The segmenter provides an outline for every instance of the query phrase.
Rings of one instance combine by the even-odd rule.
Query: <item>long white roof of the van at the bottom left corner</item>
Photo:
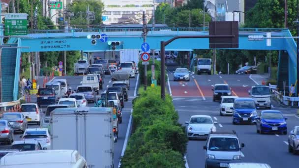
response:
[[[2,157],[0,165],[16,166],[42,163],[76,163],[80,158],[79,156],[80,154],[77,150],[35,150],[14,152],[8,153]]]

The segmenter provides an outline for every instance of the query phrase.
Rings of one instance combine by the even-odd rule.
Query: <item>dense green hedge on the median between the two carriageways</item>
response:
[[[132,135],[122,168],[183,168],[187,138],[178,122],[178,113],[167,95],[160,98],[160,87],[149,87],[133,106]]]

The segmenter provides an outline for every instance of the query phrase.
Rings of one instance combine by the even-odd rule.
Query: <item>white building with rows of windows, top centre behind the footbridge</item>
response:
[[[102,21],[104,25],[142,24],[143,11],[146,11],[147,22],[152,17],[153,0],[103,0],[103,2]]]

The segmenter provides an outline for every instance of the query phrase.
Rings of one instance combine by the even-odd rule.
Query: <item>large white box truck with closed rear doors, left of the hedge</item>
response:
[[[112,108],[60,108],[51,113],[51,149],[77,150],[88,168],[113,168]]]

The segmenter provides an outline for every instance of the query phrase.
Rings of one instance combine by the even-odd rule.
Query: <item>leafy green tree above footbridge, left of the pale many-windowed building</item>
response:
[[[71,26],[75,28],[87,28],[86,12],[87,6],[90,11],[95,13],[95,20],[90,20],[90,27],[99,28],[102,23],[102,12],[104,11],[104,4],[100,0],[74,0],[67,8],[74,12],[74,17],[71,17]]]

